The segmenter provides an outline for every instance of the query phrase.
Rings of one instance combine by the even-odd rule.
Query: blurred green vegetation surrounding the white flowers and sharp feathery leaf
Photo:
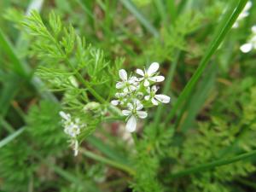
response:
[[[113,96],[120,67],[158,61],[172,97],[151,111],[136,143],[123,138],[122,121],[98,119],[73,157],[59,101],[79,110],[90,98],[50,91],[58,84],[51,79],[66,76],[42,75],[54,60],[21,25],[35,2],[0,2],[0,191],[256,191],[255,52],[239,49],[256,24],[255,5],[232,29],[246,0],[42,1],[46,26],[54,12],[92,44],[90,61],[101,49],[112,73],[84,75],[101,96]]]

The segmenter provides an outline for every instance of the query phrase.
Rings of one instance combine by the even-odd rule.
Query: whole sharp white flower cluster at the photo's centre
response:
[[[137,119],[145,119],[148,113],[142,111],[144,107],[157,106],[160,102],[170,102],[170,97],[162,94],[156,94],[158,88],[154,85],[157,82],[165,80],[164,76],[158,75],[159,64],[153,62],[148,69],[144,71],[137,69],[136,73],[140,75],[139,78],[135,76],[128,77],[125,69],[119,70],[119,81],[116,88],[120,92],[115,94],[116,100],[111,103],[114,106],[119,105],[125,108],[122,113],[127,116],[126,130],[133,132],[136,130]],[[150,87],[151,86],[151,87]]]

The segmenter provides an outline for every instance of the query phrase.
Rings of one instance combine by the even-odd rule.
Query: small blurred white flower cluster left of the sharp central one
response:
[[[61,111],[60,115],[64,132],[70,137],[70,145],[73,148],[74,155],[77,156],[79,154],[79,141],[77,137],[85,124],[82,124],[79,118],[73,120],[69,113]]]

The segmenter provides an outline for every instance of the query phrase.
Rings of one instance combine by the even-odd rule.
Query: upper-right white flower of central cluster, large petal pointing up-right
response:
[[[164,76],[157,75],[157,71],[159,69],[159,63],[153,62],[151,65],[148,67],[148,69],[143,70],[142,69],[137,69],[136,73],[143,76],[143,78],[138,79],[139,81],[144,81],[144,86],[148,87],[150,84],[150,81],[152,82],[161,82],[165,80]]]

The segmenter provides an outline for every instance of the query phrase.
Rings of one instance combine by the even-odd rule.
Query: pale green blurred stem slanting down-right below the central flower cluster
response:
[[[100,156],[98,154],[91,153],[90,151],[84,150],[83,148],[80,149],[80,152],[81,152],[81,154],[84,154],[86,157],[89,157],[92,160],[97,160],[97,161],[102,162],[104,164],[107,164],[109,166],[113,166],[113,167],[118,168],[119,170],[127,172],[127,173],[129,173],[131,175],[135,175],[136,174],[135,170],[133,170],[129,166],[125,166],[125,165],[120,164],[120,163],[118,163],[116,161],[109,160],[109,159],[107,159],[105,157],[102,157],[102,156]]]

